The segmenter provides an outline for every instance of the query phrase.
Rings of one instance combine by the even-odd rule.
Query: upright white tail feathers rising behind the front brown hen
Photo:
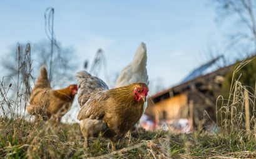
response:
[[[135,82],[143,82],[148,85],[148,74],[146,71],[146,45],[141,42],[133,61],[121,71],[116,80],[115,87],[122,87]]]

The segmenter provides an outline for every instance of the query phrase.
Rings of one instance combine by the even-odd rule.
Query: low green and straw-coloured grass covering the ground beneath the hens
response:
[[[131,134],[131,140],[120,140],[119,152],[112,155],[104,138],[92,139],[88,150],[83,144],[77,123],[51,125],[1,118],[0,158],[256,158],[255,137],[241,132],[173,134],[138,130]]]

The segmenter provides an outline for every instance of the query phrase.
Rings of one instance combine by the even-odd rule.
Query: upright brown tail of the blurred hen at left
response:
[[[47,77],[47,70],[46,65],[42,65],[40,68],[40,73],[38,75],[38,80],[36,81],[36,84],[34,85],[34,89],[36,88],[51,88],[50,81]]]

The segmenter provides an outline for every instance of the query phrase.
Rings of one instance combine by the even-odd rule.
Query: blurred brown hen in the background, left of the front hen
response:
[[[60,122],[61,117],[71,108],[77,90],[77,85],[74,84],[64,89],[51,89],[47,70],[43,65],[32,90],[30,105],[26,106],[26,110],[36,118],[41,116],[44,120],[48,120],[54,117]]]

